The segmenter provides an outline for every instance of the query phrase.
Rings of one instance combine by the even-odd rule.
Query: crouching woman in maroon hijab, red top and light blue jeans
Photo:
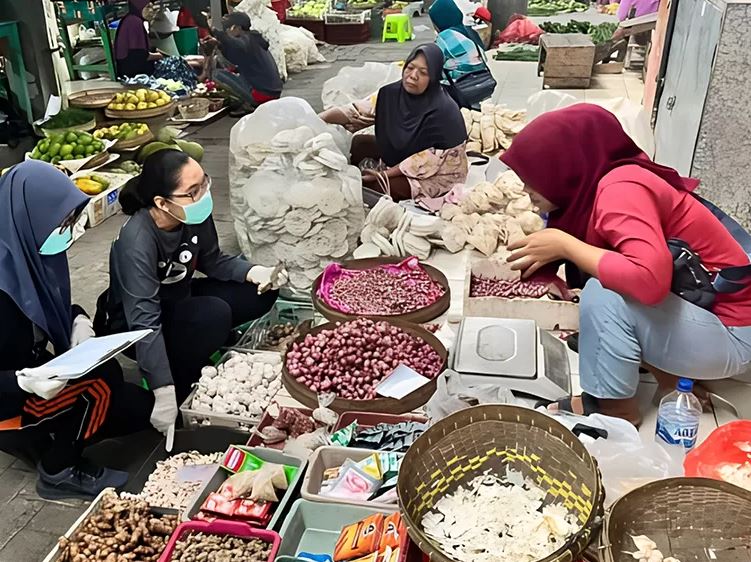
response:
[[[579,313],[583,394],[551,409],[601,412],[638,424],[641,364],[658,378],[661,392],[675,388],[675,376],[745,373],[751,288],[718,294],[711,310],[670,292],[671,238],[688,244],[710,271],[749,262],[691,195],[698,180],[652,162],[613,114],[589,104],[541,115],[501,160],[548,214],[547,228],[509,248],[513,268],[529,276],[565,261],[589,277]]]

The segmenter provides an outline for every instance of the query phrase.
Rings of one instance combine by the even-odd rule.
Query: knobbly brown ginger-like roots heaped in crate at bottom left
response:
[[[154,515],[146,502],[113,492],[71,538],[60,538],[58,562],[157,562],[175,527],[176,516]]]

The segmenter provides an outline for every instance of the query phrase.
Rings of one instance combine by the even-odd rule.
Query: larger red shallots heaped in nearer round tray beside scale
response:
[[[425,341],[367,318],[308,334],[293,344],[286,362],[289,374],[313,392],[333,392],[350,400],[375,398],[375,387],[400,363],[431,379],[443,364]]]

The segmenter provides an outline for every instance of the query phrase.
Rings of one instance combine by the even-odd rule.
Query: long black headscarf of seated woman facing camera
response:
[[[383,161],[396,166],[422,150],[447,150],[467,140],[467,129],[456,102],[441,85],[443,53],[435,43],[418,46],[405,62],[417,55],[428,61],[430,84],[419,96],[408,93],[402,81],[383,86],[376,101],[376,142]]]

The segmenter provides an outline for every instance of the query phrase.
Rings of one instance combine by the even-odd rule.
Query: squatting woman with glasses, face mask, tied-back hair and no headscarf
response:
[[[221,251],[211,178],[184,152],[149,156],[120,205],[131,216],[112,245],[110,288],[95,324],[109,333],[153,330],[135,354],[156,399],[152,425],[166,434],[210,355],[233,326],[271,309],[286,272]],[[206,278],[193,279],[196,271]]]

